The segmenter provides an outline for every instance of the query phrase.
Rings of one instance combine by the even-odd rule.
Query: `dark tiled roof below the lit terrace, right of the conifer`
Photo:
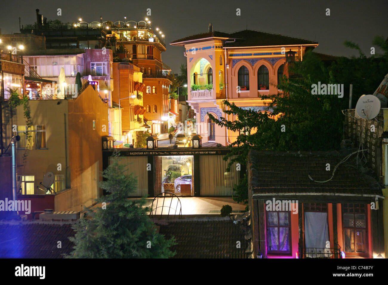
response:
[[[171,248],[177,252],[174,258],[248,258],[244,231],[227,219],[167,221],[167,225],[160,225],[159,233],[175,237],[177,245]],[[241,248],[236,247],[237,241]]]

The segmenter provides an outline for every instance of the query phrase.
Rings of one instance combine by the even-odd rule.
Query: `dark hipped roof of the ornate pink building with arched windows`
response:
[[[193,36],[188,36],[179,40],[171,41],[171,44],[181,41],[199,40],[203,38],[220,37],[236,39],[235,42],[225,43],[224,47],[255,47],[255,46],[271,46],[271,45],[305,45],[318,44],[316,41],[310,41],[280,34],[271,34],[260,31],[245,29],[235,33],[222,33],[218,31],[203,33]]]

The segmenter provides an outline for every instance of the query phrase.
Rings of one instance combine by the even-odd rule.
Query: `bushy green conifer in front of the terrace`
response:
[[[126,166],[118,162],[118,153],[111,164],[102,172],[106,178],[100,187],[108,192],[97,203],[106,207],[86,209],[88,218],[73,225],[74,251],[68,258],[168,258],[175,252],[170,247],[174,239],[166,240],[156,233],[154,223],[149,219],[148,208],[142,207],[144,199],[129,200],[135,191],[137,179],[133,173],[126,174]],[[106,209],[105,209],[106,208]]]

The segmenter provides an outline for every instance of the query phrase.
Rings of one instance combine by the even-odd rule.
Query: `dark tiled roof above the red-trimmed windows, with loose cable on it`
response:
[[[346,153],[350,154],[350,152]],[[339,152],[249,152],[249,174],[253,193],[352,193],[382,195],[378,182],[341,163],[330,181],[335,166],[346,154]],[[354,154],[355,157],[355,154]],[[326,171],[326,164],[330,170]],[[312,181],[310,175],[315,181]]]

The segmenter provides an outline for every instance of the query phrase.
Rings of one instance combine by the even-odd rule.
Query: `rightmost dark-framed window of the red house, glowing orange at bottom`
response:
[[[346,203],[341,208],[343,251],[348,257],[369,257],[367,204]]]

